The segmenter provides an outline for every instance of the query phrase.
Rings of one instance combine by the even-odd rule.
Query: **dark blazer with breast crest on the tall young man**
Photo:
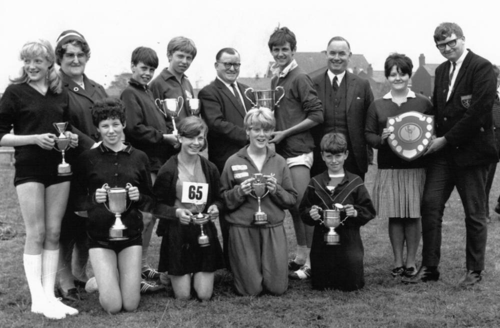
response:
[[[498,160],[494,144],[491,108],[496,79],[491,63],[469,50],[446,101],[449,60],[435,70],[433,105],[436,135],[444,136],[447,151],[457,166],[472,166]]]

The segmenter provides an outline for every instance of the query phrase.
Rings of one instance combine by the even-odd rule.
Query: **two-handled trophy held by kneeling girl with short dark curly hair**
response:
[[[130,204],[126,205],[128,189],[132,187],[127,183],[126,188],[109,188],[108,184],[102,185],[102,189],[107,191],[107,202],[109,206],[104,203],[106,209],[114,214],[114,224],[109,228],[109,240],[127,240],[126,236],[127,227],[121,222],[121,213],[128,210]]]

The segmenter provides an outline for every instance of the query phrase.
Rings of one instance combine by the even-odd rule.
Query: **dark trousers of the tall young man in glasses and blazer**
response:
[[[457,167],[440,151],[429,159],[422,200],[422,266],[438,266],[444,205],[456,187],[465,212],[467,270],[484,270],[488,165]]]

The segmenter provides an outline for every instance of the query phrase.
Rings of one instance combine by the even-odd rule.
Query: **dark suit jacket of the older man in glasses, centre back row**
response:
[[[237,83],[239,92],[248,87]],[[245,111],[239,108],[232,92],[218,78],[202,88],[198,93],[201,102],[201,116],[208,125],[208,159],[222,172],[224,163],[246,143],[246,132],[243,128]],[[243,95],[246,110],[252,108],[251,103]]]

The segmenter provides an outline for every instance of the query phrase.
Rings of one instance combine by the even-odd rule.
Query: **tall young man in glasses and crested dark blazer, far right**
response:
[[[422,200],[422,266],[404,283],[439,279],[444,204],[456,187],[465,212],[467,272],[460,286],[481,280],[486,249],[486,183],[498,160],[491,108],[496,80],[492,65],[465,48],[455,23],[441,23],[434,42],[447,60],[435,70],[433,105],[436,138],[425,153],[428,167]]]

